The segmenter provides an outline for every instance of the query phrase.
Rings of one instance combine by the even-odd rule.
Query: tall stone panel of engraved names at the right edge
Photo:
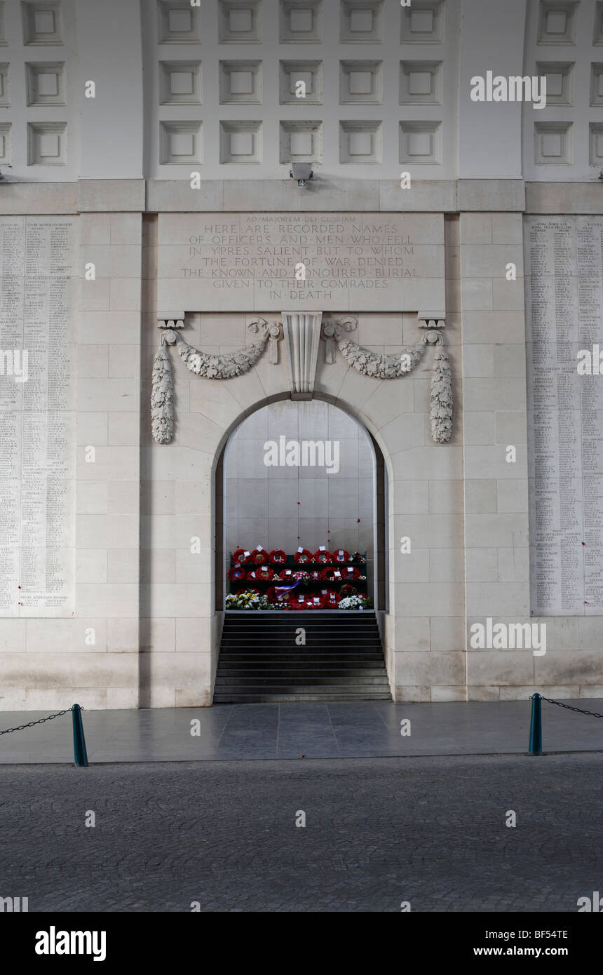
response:
[[[603,216],[530,217],[525,253],[532,609],[601,614]]]

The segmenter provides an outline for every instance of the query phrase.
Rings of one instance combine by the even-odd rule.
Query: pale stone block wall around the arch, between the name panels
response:
[[[140,186],[127,182],[80,186],[79,194],[61,188],[46,198],[51,213],[71,213],[79,241],[76,609],[70,618],[0,620],[5,709],[74,700],[89,708],[211,703],[222,622],[215,599],[219,457],[245,418],[289,397],[283,343],[278,365],[265,354],[228,381],[191,374],[172,349],[174,439],[153,442],[158,219],[142,214]],[[352,370],[339,353],[327,365],[321,343],[316,396],[354,417],[385,458],[383,635],[396,699],[505,700],[535,687],[550,696],[601,696],[600,617],[530,617],[525,203],[518,180],[470,182],[457,187],[464,209],[451,201],[441,224],[451,443],[432,440],[430,352],[412,374],[379,380]],[[8,212],[35,213],[31,195],[6,188]],[[550,212],[554,200],[552,191],[528,187],[533,210]],[[576,213],[595,207],[590,187],[564,200]],[[329,210],[334,203],[324,200]],[[85,277],[90,264],[94,280]],[[508,280],[509,264],[515,280]],[[232,352],[251,340],[247,326],[258,314],[196,309],[186,339]],[[354,339],[377,352],[400,351],[420,334],[413,310],[360,310],[356,317]],[[410,539],[410,553],[400,551],[402,538]],[[472,648],[471,625],[488,617],[546,622],[546,655]]]

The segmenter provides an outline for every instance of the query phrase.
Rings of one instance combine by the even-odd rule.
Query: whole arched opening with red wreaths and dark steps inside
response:
[[[391,700],[379,625],[387,592],[386,475],[370,434],[326,399],[283,397],[232,430],[215,484],[215,608],[224,622],[213,703]],[[273,553],[268,571],[279,582],[233,559],[254,550],[262,558]],[[343,556],[322,565],[331,582],[320,573],[324,550],[334,560]],[[296,552],[309,562],[296,564]],[[296,570],[304,581],[295,581]],[[235,604],[225,598],[228,589]],[[261,610],[239,611],[251,592],[263,598]],[[350,611],[341,611],[342,598]]]

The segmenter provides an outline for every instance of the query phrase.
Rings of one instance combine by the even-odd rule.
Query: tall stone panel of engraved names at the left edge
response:
[[[75,225],[0,218],[0,616],[70,616]]]

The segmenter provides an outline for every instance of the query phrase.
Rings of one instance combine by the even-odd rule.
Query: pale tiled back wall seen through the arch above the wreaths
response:
[[[291,443],[299,463],[287,455]],[[323,450],[305,454],[306,444]],[[247,415],[218,458],[215,514],[216,611],[225,606],[232,553],[258,545],[365,555],[366,594],[387,610],[386,465],[371,434],[340,406],[283,397]]]

